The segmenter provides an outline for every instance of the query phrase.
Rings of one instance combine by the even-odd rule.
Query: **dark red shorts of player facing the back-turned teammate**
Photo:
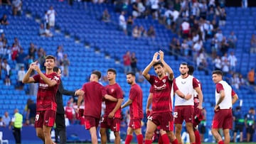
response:
[[[110,128],[111,131],[120,131],[120,118],[108,118],[107,116],[102,117],[100,121],[100,128]]]

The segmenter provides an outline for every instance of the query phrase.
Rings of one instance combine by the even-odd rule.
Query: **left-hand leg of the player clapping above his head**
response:
[[[154,135],[155,130],[156,130],[156,124],[148,120],[146,123],[145,144],[152,143],[152,137]]]

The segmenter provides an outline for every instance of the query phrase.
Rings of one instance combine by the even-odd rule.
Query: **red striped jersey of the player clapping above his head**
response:
[[[171,104],[171,84],[167,76],[159,79],[154,75],[150,75],[149,83],[153,87],[152,113],[172,111]]]

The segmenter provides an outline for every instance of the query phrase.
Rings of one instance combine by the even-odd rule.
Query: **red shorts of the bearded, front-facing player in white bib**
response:
[[[186,123],[193,123],[193,113],[193,106],[175,106],[174,123],[182,124],[184,120]]]

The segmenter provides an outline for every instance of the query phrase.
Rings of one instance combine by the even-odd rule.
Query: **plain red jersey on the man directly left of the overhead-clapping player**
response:
[[[142,110],[142,89],[138,84],[133,84],[130,92],[129,99],[132,100],[132,104],[130,104],[129,111],[131,119],[134,118],[143,118],[143,110]]]

